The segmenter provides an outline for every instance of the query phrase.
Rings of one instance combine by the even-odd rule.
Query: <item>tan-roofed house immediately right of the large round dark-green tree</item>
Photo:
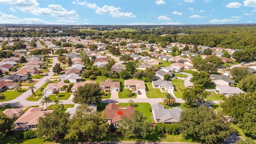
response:
[[[100,82],[100,89],[105,91],[110,90],[110,92],[120,92],[120,82],[107,79],[104,82]]]

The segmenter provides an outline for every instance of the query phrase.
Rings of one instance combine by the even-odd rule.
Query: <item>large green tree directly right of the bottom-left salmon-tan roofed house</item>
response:
[[[54,110],[52,113],[45,113],[44,118],[39,118],[36,136],[38,138],[59,140],[68,133],[68,121],[70,114],[62,110]]]

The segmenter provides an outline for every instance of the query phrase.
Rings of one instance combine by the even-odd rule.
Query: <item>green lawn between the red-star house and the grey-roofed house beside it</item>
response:
[[[119,108],[125,108],[126,106],[130,106],[129,103],[119,103]],[[151,118],[152,112],[151,105],[147,102],[145,103],[134,103],[134,109],[137,112],[141,112],[144,116],[146,116],[150,121],[154,122],[154,119]]]

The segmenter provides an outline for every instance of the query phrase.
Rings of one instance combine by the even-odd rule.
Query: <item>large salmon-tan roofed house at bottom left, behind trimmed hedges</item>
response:
[[[14,122],[14,130],[36,130],[39,118],[44,118],[44,114],[53,112],[53,110],[43,110],[44,107],[29,108]]]

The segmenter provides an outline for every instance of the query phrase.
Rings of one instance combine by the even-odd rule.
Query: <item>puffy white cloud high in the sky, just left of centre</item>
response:
[[[106,6],[104,5],[102,8],[96,9],[96,14],[109,14],[110,16],[114,18],[134,18],[136,17],[131,12],[119,12],[121,8],[116,8],[114,6]]]

